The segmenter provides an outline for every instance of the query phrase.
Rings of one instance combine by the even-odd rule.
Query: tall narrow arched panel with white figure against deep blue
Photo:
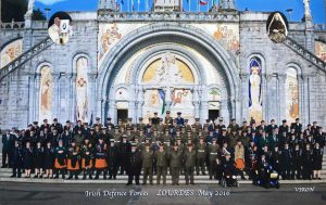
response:
[[[262,102],[262,62],[258,57],[252,57],[249,65],[249,118],[256,121],[263,119]]]

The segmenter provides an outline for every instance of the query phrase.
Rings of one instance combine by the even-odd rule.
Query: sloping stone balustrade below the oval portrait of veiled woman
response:
[[[293,50],[296,53],[301,55],[303,59],[318,67],[322,72],[326,73],[326,63],[317,57],[314,53],[306,50],[304,47],[299,44],[296,40],[290,37],[287,37],[284,43]]]

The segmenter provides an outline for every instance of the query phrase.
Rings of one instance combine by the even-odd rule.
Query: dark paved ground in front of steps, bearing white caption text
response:
[[[297,191],[296,191],[297,188]],[[301,189],[304,188],[304,189]],[[300,190],[300,191],[299,191]],[[112,191],[120,196],[110,197]],[[304,192],[303,192],[304,191]],[[88,194],[92,195],[86,195]],[[140,196],[130,193],[142,194]],[[212,193],[212,195],[210,195]],[[105,195],[106,194],[106,195]],[[160,195],[161,194],[161,195]],[[163,194],[163,195],[162,195]],[[183,194],[176,196],[175,194]],[[126,195],[126,196],[124,196]],[[0,205],[64,205],[64,204],[326,204],[326,184],[283,185],[279,190],[252,185],[224,189],[220,185],[146,185],[126,187],[122,184],[41,184],[0,183]]]

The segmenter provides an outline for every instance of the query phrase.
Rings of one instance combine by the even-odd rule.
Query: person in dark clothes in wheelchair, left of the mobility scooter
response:
[[[222,162],[222,171],[223,171],[222,180],[225,180],[226,182],[225,184],[227,187],[238,185],[237,168],[229,153],[225,155],[225,159]],[[222,185],[224,184],[222,183]]]

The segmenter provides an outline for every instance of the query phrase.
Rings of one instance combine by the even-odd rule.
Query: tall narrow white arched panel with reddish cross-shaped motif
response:
[[[76,61],[76,115],[77,119],[82,121],[88,120],[88,60],[86,57],[79,57]]]

